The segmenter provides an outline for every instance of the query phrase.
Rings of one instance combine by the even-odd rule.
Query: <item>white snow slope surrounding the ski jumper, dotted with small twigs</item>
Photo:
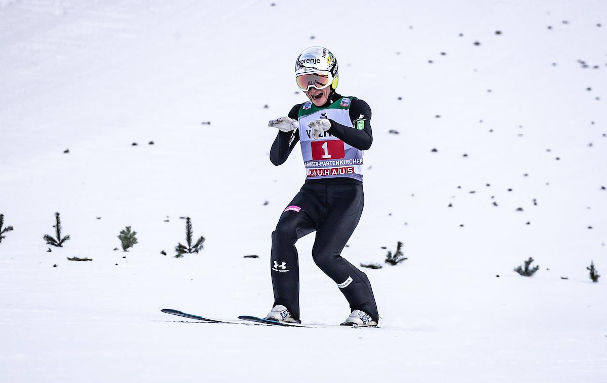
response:
[[[0,381],[607,381],[607,276],[586,270],[607,273],[606,42],[604,0],[0,0]],[[404,242],[365,269],[384,327],[160,313],[270,310],[270,234],[305,173],[299,149],[268,161],[266,121],[305,101],[310,45],[373,109],[343,255]],[[72,239],[49,253],[55,211]],[[206,242],[176,259],[181,216]],[[126,225],[139,244],[113,251]],[[335,324],[313,241],[302,319]]]

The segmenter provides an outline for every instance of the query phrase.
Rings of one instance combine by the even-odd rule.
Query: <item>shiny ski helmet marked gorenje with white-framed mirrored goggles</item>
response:
[[[310,87],[322,89],[331,85],[331,89],[335,90],[339,81],[338,69],[337,59],[327,48],[305,48],[297,56],[297,61],[295,62],[297,85],[303,90],[308,90]],[[305,75],[317,76],[313,78],[314,76]]]

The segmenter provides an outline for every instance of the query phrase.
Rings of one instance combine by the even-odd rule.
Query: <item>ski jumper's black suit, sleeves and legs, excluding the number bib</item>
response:
[[[340,95],[333,93],[323,108],[340,98]],[[301,105],[291,109],[290,118],[298,118]],[[364,128],[354,129],[329,119],[331,128],[327,133],[359,150],[367,150],[373,141],[369,124],[371,108],[360,99],[352,99],[348,114],[351,121],[363,115]],[[278,132],[270,150],[270,161],[274,165],[283,164],[297,141],[297,130]],[[272,233],[270,273],[274,305],[284,305],[291,316],[299,320],[299,264],[295,242],[316,231],[312,248],[316,265],[338,285],[351,310],[365,311],[377,322],[378,308],[367,275],[341,256],[361,218],[364,205],[362,182],[347,177],[307,179],[288,206],[293,205],[301,210],[297,214],[288,208],[283,211]]]

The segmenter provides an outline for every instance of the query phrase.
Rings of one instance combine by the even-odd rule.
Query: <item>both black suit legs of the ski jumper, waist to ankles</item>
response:
[[[341,256],[361,218],[362,185],[304,184],[272,233],[270,268],[274,305],[299,319],[299,265],[295,243],[316,230],[312,257],[340,288],[351,310],[365,311],[378,321],[378,309],[367,275]],[[291,210],[290,210],[291,208]]]

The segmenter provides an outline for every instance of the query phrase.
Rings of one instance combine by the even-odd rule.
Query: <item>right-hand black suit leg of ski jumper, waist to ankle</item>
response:
[[[319,222],[312,257],[337,284],[351,310],[362,310],[378,321],[378,308],[367,275],[356,268],[341,252],[361,218],[364,205],[362,185],[331,185],[327,188],[327,215]]]

